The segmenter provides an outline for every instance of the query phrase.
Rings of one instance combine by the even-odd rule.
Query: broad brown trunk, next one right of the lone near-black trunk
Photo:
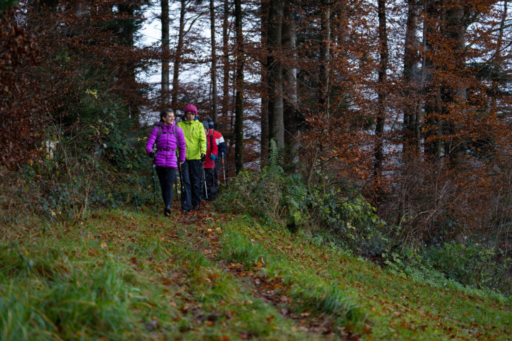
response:
[[[417,100],[417,78],[418,78],[418,52],[417,52],[417,18],[418,1],[408,0],[407,26],[405,49],[403,53],[403,81],[404,81],[404,101],[403,110],[403,142],[402,150],[404,160],[409,160],[411,154],[417,154],[417,141],[415,141],[415,122],[416,117],[420,115]]]

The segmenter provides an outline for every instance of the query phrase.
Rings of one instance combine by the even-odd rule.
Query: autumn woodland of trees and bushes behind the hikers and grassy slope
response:
[[[194,103],[246,208],[280,184],[267,213],[290,229],[378,262],[461,245],[479,263],[457,276],[507,292],[511,24],[506,0],[2,0],[0,218],[151,202],[145,115]]]

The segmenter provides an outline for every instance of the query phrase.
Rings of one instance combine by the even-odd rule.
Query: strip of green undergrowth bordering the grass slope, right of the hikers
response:
[[[275,153],[270,155],[269,166],[261,172],[243,171],[233,179],[218,199],[219,210],[302,231],[318,245],[332,243],[407,276],[512,295],[512,262],[503,258],[499,248],[402,245],[400,227],[380,219],[375,208],[350,186],[318,185],[308,190],[300,174],[285,173]]]

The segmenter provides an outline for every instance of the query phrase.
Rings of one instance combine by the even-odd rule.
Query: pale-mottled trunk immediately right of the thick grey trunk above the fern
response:
[[[284,69],[284,88],[286,100],[284,105],[284,125],[285,125],[285,142],[287,145],[289,163],[298,162],[297,140],[295,136],[298,133],[299,117],[297,115],[297,34],[296,34],[296,14],[293,4],[287,2],[283,14],[283,45],[286,49],[288,62]]]

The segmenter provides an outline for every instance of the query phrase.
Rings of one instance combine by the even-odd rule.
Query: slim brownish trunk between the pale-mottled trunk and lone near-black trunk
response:
[[[322,0],[322,22],[320,26],[322,46],[320,48],[320,91],[319,103],[324,116],[329,118],[329,60],[331,50],[331,1]]]

